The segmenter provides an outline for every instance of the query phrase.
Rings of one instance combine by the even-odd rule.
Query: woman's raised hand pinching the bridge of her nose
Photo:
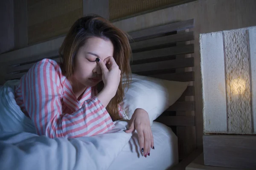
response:
[[[104,83],[104,89],[108,91],[109,95],[113,98],[116,95],[117,88],[120,83],[121,70],[116,64],[116,61],[113,57],[108,57],[104,61],[96,59],[102,70],[102,81]]]

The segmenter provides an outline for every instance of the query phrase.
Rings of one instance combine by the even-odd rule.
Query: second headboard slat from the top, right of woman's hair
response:
[[[164,37],[157,37],[153,39],[138,41],[130,43],[131,49],[135,52],[138,49],[144,49],[152,46],[162,46],[164,44],[176,43],[182,41],[194,40],[194,32],[183,32],[180,34],[167,35]]]

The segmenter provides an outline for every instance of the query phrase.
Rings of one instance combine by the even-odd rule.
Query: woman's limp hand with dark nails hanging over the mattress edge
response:
[[[154,149],[154,138],[151,131],[148,112],[144,109],[136,109],[131,117],[129,130],[126,133],[131,133],[137,130],[139,136],[140,150],[147,157],[150,155],[150,147]]]

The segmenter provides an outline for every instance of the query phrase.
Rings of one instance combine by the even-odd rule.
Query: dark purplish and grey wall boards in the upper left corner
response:
[[[26,47],[26,0],[1,0],[0,16],[0,54]]]

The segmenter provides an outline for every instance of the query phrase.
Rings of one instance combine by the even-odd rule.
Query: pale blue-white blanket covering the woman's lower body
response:
[[[28,120],[19,114],[13,92],[6,86],[0,88],[1,170],[107,170],[131,138],[131,134],[124,132],[127,121],[116,121],[115,128],[108,133],[91,137],[51,139],[20,132],[19,128],[29,130],[31,124],[26,127],[18,124],[20,118],[21,123]],[[5,93],[8,95],[3,98]],[[17,128],[12,132],[3,131],[16,123]]]

